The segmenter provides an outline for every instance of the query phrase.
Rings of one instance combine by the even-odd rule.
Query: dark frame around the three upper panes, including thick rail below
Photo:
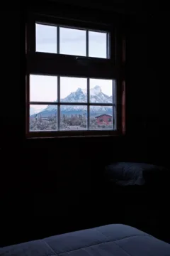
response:
[[[89,31],[106,31],[109,33],[110,58],[94,58],[67,54],[52,54],[35,51],[35,23],[69,26],[89,29]],[[119,79],[120,73],[120,37],[117,28],[103,24],[72,21],[47,16],[30,16],[27,23],[27,73],[46,75],[72,75]],[[58,36],[58,35],[57,35]]]

